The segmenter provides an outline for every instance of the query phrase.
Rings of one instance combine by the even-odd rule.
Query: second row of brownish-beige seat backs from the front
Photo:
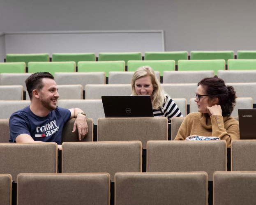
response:
[[[64,142],[61,169],[56,143],[0,143],[0,173],[109,173],[227,171],[226,141],[148,141],[142,159],[140,141]],[[145,152],[144,152],[145,153]],[[59,156],[60,157],[60,156]],[[231,171],[256,171],[256,140],[231,142]],[[60,159],[60,158],[59,158]],[[146,160],[145,160],[146,159]],[[144,161],[145,160],[145,161]]]

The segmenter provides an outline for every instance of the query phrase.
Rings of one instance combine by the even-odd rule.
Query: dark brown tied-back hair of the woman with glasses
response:
[[[203,78],[198,83],[205,90],[206,94],[209,95],[209,99],[219,98],[219,105],[221,106],[222,116],[230,116],[235,106],[235,89],[233,86],[226,86],[225,82],[214,76],[212,78]]]

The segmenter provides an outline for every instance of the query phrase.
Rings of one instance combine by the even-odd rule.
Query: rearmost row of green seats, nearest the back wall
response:
[[[234,51],[191,51],[190,60],[219,60],[234,59]],[[238,51],[237,59],[256,59],[256,51]],[[49,62],[48,53],[40,54],[7,54],[6,62]],[[128,65],[129,60],[142,60],[141,52],[134,53],[99,53],[99,61],[125,61]],[[174,52],[145,52],[144,60],[188,60],[187,51]],[[53,62],[74,61],[96,61],[95,53],[53,53]]]

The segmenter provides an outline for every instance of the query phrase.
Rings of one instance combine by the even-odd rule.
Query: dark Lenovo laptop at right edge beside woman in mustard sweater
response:
[[[241,140],[256,139],[256,109],[238,109]]]

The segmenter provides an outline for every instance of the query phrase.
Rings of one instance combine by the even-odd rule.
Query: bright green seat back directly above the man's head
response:
[[[75,62],[30,62],[28,73],[49,72],[53,76],[56,72],[75,72]]]

